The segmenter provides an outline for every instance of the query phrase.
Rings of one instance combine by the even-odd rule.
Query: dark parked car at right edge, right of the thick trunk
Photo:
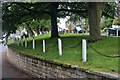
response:
[[[118,30],[118,35],[120,36],[120,27],[118,25],[112,25],[111,28],[108,28],[108,35],[117,35],[117,30]]]

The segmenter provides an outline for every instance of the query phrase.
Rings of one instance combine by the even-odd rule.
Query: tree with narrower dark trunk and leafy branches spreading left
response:
[[[64,14],[67,14],[68,12],[80,12],[77,10],[68,10],[68,9],[58,9],[59,3],[5,3],[8,7],[6,7],[5,11],[6,11],[6,15],[7,17],[15,17],[16,21],[18,21],[17,23],[14,22],[13,24],[20,24],[21,22],[23,22],[24,20],[26,20],[26,17],[24,18],[23,15],[26,15],[29,17],[28,18],[36,18],[38,16],[43,16],[45,14],[49,15],[51,17],[51,37],[58,37],[58,30],[57,30],[57,16],[63,16]],[[63,4],[63,3],[62,3]],[[60,4],[60,5],[62,5]],[[64,8],[66,8],[69,4],[64,3],[62,6]],[[65,7],[66,6],[66,7]],[[70,6],[70,5],[69,5]],[[67,13],[65,12],[67,10]],[[7,14],[8,12],[10,12],[10,14]],[[61,12],[64,11],[64,12]],[[19,13],[16,13],[19,12]],[[24,14],[23,14],[24,13]],[[58,14],[60,13],[60,14]],[[61,15],[61,13],[64,13]],[[21,15],[23,14],[23,15]],[[16,16],[13,16],[16,15]],[[18,17],[17,17],[18,16]],[[6,21],[5,19],[7,19],[7,17],[4,17],[4,21],[5,23],[11,21]],[[10,17],[10,18],[11,18]],[[22,19],[22,20],[21,20]],[[10,23],[10,22],[9,22]],[[12,24],[12,26],[13,26]],[[7,26],[7,25],[6,25]],[[11,27],[12,27],[11,26]],[[4,27],[6,28],[6,27]],[[13,28],[11,28],[13,29]]]

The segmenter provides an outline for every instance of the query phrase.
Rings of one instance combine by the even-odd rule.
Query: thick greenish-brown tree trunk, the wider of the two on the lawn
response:
[[[100,32],[100,19],[104,3],[89,2],[88,3],[88,16],[89,16],[89,41],[94,42],[101,39]]]

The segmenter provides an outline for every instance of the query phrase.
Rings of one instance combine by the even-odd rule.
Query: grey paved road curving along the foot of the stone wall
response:
[[[7,60],[7,46],[0,44],[0,79],[29,78],[28,75],[14,68]]]

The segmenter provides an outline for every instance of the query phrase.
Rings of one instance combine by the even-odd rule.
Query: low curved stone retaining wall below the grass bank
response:
[[[20,52],[9,49],[9,61],[32,77],[37,78],[94,78],[99,80],[116,80],[114,76],[97,72],[89,72],[77,66],[63,65],[50,60],[33,58]],[[92,79],[93,80],[93,79]]]

